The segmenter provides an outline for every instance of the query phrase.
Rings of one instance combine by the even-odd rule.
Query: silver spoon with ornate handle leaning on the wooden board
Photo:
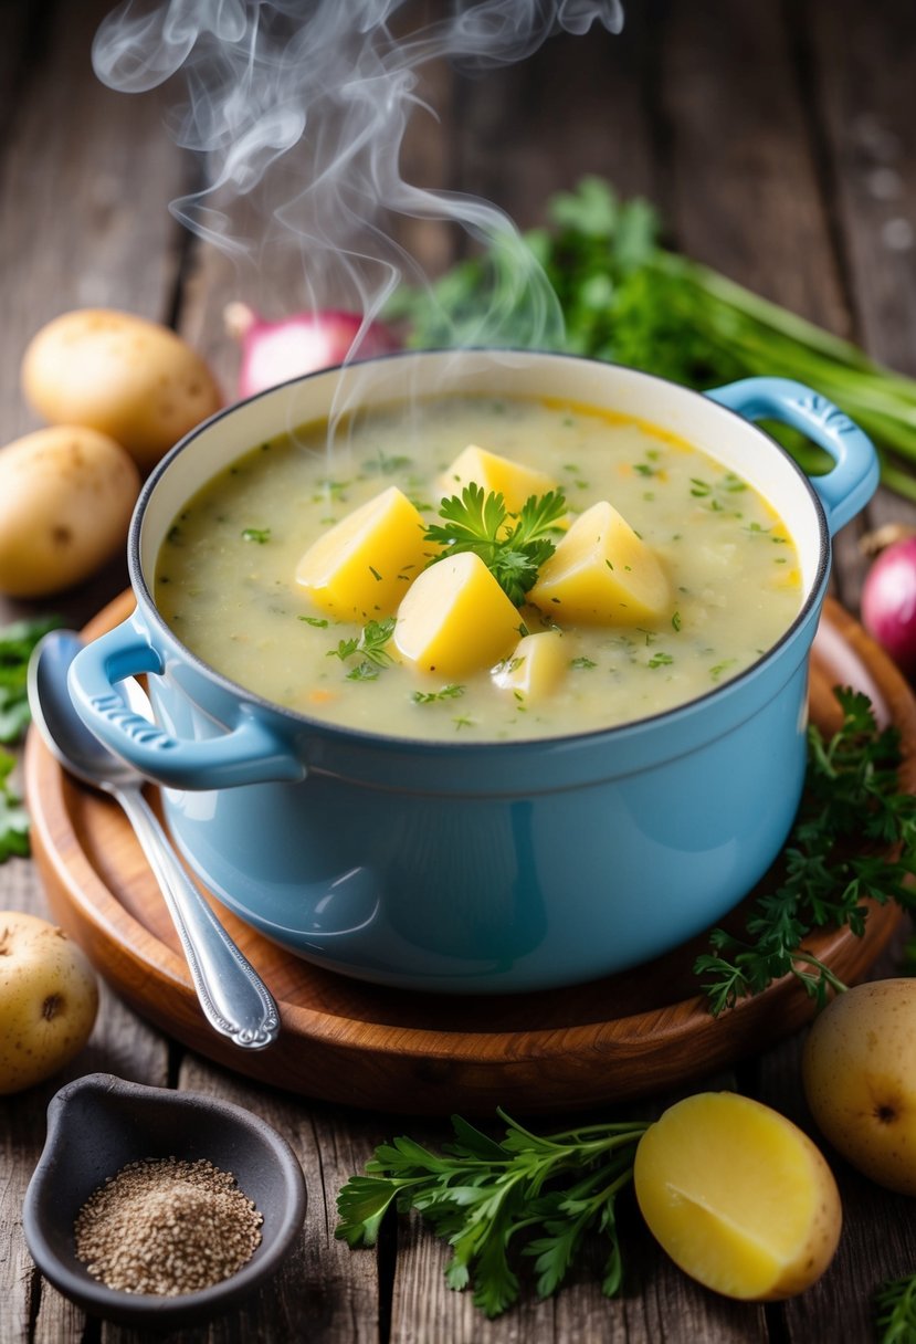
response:
[[[81,648],[73,630],[51,630],[35,646],[28,664],[32,722],[70,774],[124,808],[165,896],[207,1021],[236,1046],[263,1050],[279,1032],[270,991],[181,867],[142,794],[140,771],[102,746],[73,706],[67,668]]]

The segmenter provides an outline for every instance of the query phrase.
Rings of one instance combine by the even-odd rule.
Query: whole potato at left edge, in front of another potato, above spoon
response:
[[[56,425],[0,449],[0,593],[47,597],[124,546],[140,492],[132,457],[105,434]]]

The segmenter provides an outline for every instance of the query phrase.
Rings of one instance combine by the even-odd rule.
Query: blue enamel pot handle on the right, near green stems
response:
[[[743,378],[713,387],[706,396],[745,419],[775,419],[807,434],[837,464],[825,476],[809,480],[823,504],[833,536],[849,523],[878,485],[878,457],[858,425],[819,392],[790,378]]]

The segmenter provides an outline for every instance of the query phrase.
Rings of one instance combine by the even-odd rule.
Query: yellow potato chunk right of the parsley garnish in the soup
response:
[[[600,500],[557,542],[528,599],[560,625],[638,625],[665,616],[672,595],[658,556]]]

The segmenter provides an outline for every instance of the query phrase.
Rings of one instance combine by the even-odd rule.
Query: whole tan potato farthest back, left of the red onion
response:
[[[21,386],[44,419],[110,434],[144,472],[222,405],[214,375],[173,331],[105,308],[43,327],[26,349]]]

